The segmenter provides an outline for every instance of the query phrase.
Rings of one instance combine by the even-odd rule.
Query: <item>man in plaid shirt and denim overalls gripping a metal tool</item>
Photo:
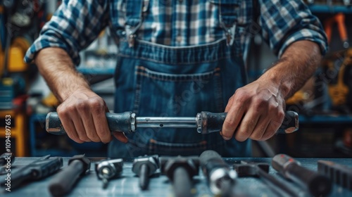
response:
[[[248,139],[275,134],[284,118],[285,99],[313,74],[327,50],[320,22],[301,1],[258,1],[260,30],[279,61],[246,84],[243,54],[256,33],[256,3],[63,1],[25,61],[35,61],[61,101],[58,115],[77,143],[113,140],[108,156],[122,158],[196,155],[206,149],[224,157],[248,157]],[[222,132],[138,129],[127,137],[113,132],[119,141],[113,139],[104,116],[106,104],[75,70],[78,51],[106,26],[119,47],[115,113],[195,117],[202,110],[225,111]]]

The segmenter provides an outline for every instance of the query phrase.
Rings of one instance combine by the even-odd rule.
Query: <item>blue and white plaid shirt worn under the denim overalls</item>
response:
[[[29,63],[40,49],[54,46],[68,52],[75,64],[79,51],[91,44],[105,27],[124,30],[128,0],[64,0],[51,20],[44,25],[39,38],[28,49]],[[144,3],[149,0],[144,0]],[[253,20],[251,0],[150,0],[137,38],[168,46],[208,44],[225,37],[220,27],[219,3],[239,4],[234,39],[240,39],[242,51],[248,49],[249,38],[262,33],[272,51],[281,56],[292,42],[310,40],[327,51],[322,26],[302,1],[259,0],[259,20]],[[125,39],[117,37],[117,41]]]

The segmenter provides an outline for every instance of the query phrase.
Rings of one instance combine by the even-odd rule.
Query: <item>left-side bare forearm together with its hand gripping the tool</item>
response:
[[[51,91],[61,105],[58,117],[66,133],[77,143],[84,141],[111,141],[111,132],[106,120],[106,107],[103,98],[95,94],[84,77],[77,72],[68,53],[60,48],[46,48],[35,58]],[[127,142],[124,134],[112,133],[119,141]]]

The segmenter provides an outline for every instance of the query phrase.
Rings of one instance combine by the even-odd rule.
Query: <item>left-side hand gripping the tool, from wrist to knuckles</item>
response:
[[[66,133],[77,143],[111,141],[111,132],[105,116],[107,111],[103,99],[90,89],[75,91],[57,108],[58,117]]]

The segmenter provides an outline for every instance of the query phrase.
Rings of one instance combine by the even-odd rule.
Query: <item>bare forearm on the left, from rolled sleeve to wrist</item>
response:
[[[35,63],[58,101],[65,101],[74,91],[89,89],[89,84],[77,72],[68,53],[61,48],[46,48],[37,53]]]

